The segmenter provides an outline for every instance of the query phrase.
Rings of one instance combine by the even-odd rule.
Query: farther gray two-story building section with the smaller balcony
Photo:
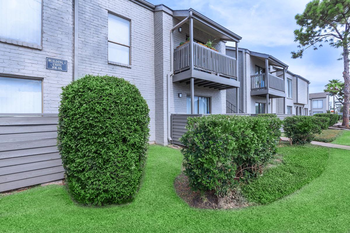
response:
[[[226,46],[226,54],[236,58],[236,48]],[[239,48],[238,67],[241,88],[238,94],[226,91],[226,112],[307,115],[310,82],[287,70],[288,65],[269,54]]]

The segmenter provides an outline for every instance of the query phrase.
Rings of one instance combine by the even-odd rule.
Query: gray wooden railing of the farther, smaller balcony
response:
[[[285,92],[284,80],[268,73],[268,88]],[[251,75],[251,90],[261,89],[266,89],[266,73]]]

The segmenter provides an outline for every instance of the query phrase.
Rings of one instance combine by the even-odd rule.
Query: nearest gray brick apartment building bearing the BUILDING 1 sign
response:
[[[14,0],[2,1],[0,12],[0,115],[55,113],[62,86],[114,75],[138,87],[150,109],[149,141],[165,145],[170,114],[225,113],[226,90],[240,87],[225,43],[241,37],[194,9]]]

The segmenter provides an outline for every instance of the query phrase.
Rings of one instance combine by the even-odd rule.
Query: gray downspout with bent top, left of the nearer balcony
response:
[[[77,0],[76,0],[77,1]],[[167,74],[167,118],[168,118],[168,140],[172,141],[173,139],[170,137],[170,77],[174,74],[174,42],[173,42],[173,32],[176,28],[180,27],[182,24],[186,23],[189,19],[192,18],[192,12],[189,12],[189,15],[186,19],[183,19],[180,23],[176,24],[170,30],[170,72]]]

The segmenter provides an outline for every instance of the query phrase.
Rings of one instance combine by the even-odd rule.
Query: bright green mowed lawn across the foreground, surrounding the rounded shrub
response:
[[[296,147],[295,147],[296,148]],[[294,150],[294,148],[291,148]],[[304,153],[300,147],[299,153]],[[190,208],[173,186],[182,155],[150,146],[146,175],[127,205],[84,207],[64,186],[0,198],[0,232],[349,232],[349,151],[330,149],[324,172],[291,195],[240,210]]]

